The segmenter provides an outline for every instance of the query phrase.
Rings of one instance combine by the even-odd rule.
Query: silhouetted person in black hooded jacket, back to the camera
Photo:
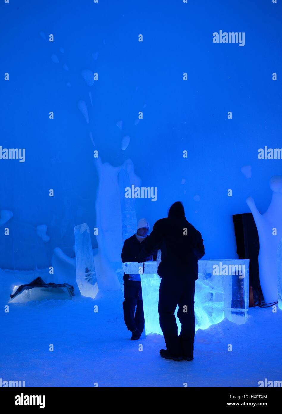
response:
[[[158,311],[167,347],[160,350],[160,355],[175,361],[191,361],[195,336],[195,281],[198,279],[198,260],[205,254],[205,249],[201,233],[186,220],[182,202],[175,202],[168,217],[155,222],[135,261],[143,262],[156,248],[162,251],[158,267],[162,279]],[[177,317],[181,322],[179,336],[174,316],[177,305]]]

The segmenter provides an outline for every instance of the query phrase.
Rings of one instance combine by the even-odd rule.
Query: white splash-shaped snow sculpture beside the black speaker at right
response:
[[[246,200],[258,229],[258,265],[265,303],[277,302],[277,249],[282,237],[282,176],[272,177],[270,188],[272,199],[264,214],[260,214],[252,197]]]

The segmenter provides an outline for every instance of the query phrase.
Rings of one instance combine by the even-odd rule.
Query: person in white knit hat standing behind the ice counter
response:
[[[150,224],[146,219],[142,218],[138,221],[136,233],[124,241],[121,255],[122,262],[136,261],[136,256],[141,252],[143,248],[143,243],[148,236],[149,229]],[[146,261],[151,260],[153,260],[153,255]],[[124,312],[124,322],[127,326],[127,329],[132,332],[131,339],[136,340],[140,338],[145,324],[141,290],[141,275],[124,274],[123,280],[124,302],[122,305]]]

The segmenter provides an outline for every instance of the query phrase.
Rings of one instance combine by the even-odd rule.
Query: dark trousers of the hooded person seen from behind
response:
[[[168,351],[176,356],[192,357],[195,336],[195,281],[180,277],[162,278],[159,292],[160,327]],[[179,336],[174,316],[177,305],[179,306],[177,317],[181,323]]]

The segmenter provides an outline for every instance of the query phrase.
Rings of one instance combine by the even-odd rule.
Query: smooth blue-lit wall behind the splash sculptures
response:
[[[137,218],[153,226],[182,200],[205,259],[237,258],[232,214],[249,212],[249,195],[265,211],[269,179],[282,173],[282,160],[258,159],[258,148],[282,146],[281,17],[270,0],[1,2],[0,145],[25,148],[24,163],[0,160],[0,209],[14,213],[18,266],[30,268],[34,252],[38,265],[50,263],[57,246],[74,256],[74,226],[95,226],[94,149],[113,166],[131,159],[142,185],[157,187],[157,201],[135,200]],[[213,43],[220,30],[245,32],[245,45]],[[83,70],[98,81],[89,86]],[[50,241],[31,249],[41,224]],[[4,227],[0,267],[12,268]]]

